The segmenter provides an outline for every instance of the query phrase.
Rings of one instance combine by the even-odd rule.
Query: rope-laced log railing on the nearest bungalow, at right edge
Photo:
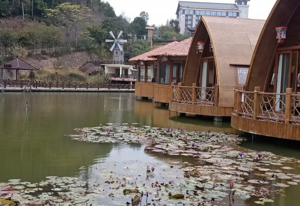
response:
[[[286,93],[253,92],[235,90],[233,113],[243,118],[269,122],[300,124],[300,95],[293,94],[292,88]]]

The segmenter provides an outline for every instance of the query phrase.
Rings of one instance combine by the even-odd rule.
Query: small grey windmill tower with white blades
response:
[[[121,39],[120,36],[122,35],[123,31],[120,30],[119,34],[115,38],[112,31],[109,31],[110,35],[113,39],[105,39],[105,42],[113,42],[110,51],[112,51],[112,60],[113,61],[124,61],[124,51],[123,45],[127,42],[126,39]]]

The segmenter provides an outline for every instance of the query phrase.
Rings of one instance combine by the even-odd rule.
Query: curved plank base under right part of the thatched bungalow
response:
[[[154,101],[169,103],[173,98],[172,86],[164,84],[154,85]]]

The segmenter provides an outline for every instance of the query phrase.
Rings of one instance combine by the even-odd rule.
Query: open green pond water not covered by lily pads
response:
[[[65,135],[74,134],[75,128],[95,127],[105,123],[140,123],[152,127],[183,128],[193,131],[238,133],[229,122],[214,123],[211,119],[176,117],[165,108],[155,108],[151,101],[135,100],[134,93],[32,93],[30,108],[23,108],[24,94],[6,92],[0,95],[0,182],[21,179],[39,182],[46,176],[93,176],[90,167],[102,163],[140,161],[146,163],[190,162],[187,157],[146,153],[139,144],[115,145],[72,141]],[[269,151],[300,159],[297,146],[282,141],[258,139],[245,141],[242,147]],[[294,174],[300,174],[296,167]],[[121,168],[120,168],[121,170]],[[282,189],[267,206],[297,206],[299,186]],[[255,198],[232,206],[256,205]],[[229,205],[229,201],[227,205]]]

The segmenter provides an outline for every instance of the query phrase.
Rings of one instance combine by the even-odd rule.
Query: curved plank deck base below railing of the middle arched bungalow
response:
[[[174,112],[187,113],[187,114],[230,117],[233,108],[170,102],[169,110]]]

